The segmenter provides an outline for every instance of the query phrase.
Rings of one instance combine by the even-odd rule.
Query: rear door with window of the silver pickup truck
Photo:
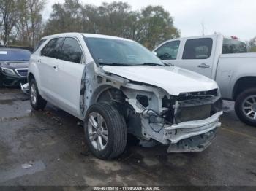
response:
[[[215,48],[216,39],[214,38],[187,39],[184,42],[183,52],[176,66],[211,78]]]

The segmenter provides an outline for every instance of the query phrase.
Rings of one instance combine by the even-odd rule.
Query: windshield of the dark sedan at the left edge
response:
[[[0,61],[29,61],[29,50],[1,50]]]

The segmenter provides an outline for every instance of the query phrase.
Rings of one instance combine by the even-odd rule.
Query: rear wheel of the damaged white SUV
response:
[[[29,82],[29,98],[30,104],[34,110],[45,109],[47,101],[45,101],[39,94],[35,79],[31,79]]]

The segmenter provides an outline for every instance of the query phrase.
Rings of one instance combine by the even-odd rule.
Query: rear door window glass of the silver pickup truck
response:
[[[182,59],[207,59],[211,56],[212,39],[190,39],[187,40]]]

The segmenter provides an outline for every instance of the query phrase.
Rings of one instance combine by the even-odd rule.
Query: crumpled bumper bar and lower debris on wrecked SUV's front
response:
[[[166,127],[164,139],[171,141],[167,152],[201,152],[206,149],[221,125],[219,117],[222,113],[217,112],[205,120],[181,122]]]

